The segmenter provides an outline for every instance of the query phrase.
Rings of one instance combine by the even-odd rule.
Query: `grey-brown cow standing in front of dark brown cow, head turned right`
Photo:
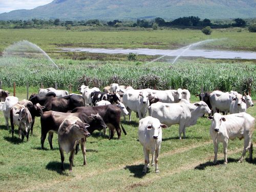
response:
[[[80,141],[82,154],[83,154],[83,165],[86,165],[86,137],[91,134],[88,132],[87,127],[90,125],[82,123],[78,117],[67,117],[59,126],[58,129],[58,144],[59,153],[61,159],[61,170],[64,170],[64,151],[69,157],[69,171],[72,172],[72,165],[74,166],[74,153],[75,146]]]

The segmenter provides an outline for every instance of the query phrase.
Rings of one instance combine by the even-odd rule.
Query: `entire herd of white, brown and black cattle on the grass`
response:
[[[243,160],[249,150],[249,160],[252,160],[252,132],[254,118],[245,113],[246,109],[253,106],[249,95],[241,95],[235,91],[230,92],[205,92],[197,95],[200,101],[190,103],[190,93],[185,89],[178,90],[134,90],[132,87],[119,86],[112,83],[105,87],[103,92],[98,88],[90,89],[82,85],[78,88],[80,94],[69,94],[65,90],[53,88],[39,89],[38,94],[32,94],[29,100],[19,101],[17,97],[9,96],[8,91],[0,90],[0,110],[3,111],[5,124],[14,137],[14,125],[18,126],[19,137],[29,139],[29,132],[33,134],[35,117],[40,117],[41,122],[41,148],[48,134],[51,149],[53,133],[58,134],[58,144],[61,156],[61,169],[63,170],[63,152],[70,153],[70,171],[77,145],[81,144],[85,165],[86,162],[86,137],[95,130],[105,134],[109,127],[109,139],[113,139],[117,132],[121,137],[121,129],[126,132],[121,124],[121,116],[136,112],[139,117],[139,141],[143,145],[145,166],[150,163],[149,154],[152,154],[152,164],[158,169],[158,155],[162,141],[162,129],[170,125],[179,124],[179,139],[185,127],[195,125],[199,117],[209,114],[211,120],[210,136],[214,142],[215,159],[219,142],[224,147],[224,163],[227,163],[228,139],[244,138],[244,150],[240,158]],[[149,116],[146,117],[148,111]],[[223,113],[221,115],[220,113]],[[227,115],[227,113],[230,115]],[[213,115],[213,116],[210,116]],[[121,128],[120,128],[121,125]],[[154,159],[155,154],[155,159]],[[154,161],[153,161],[154,160]]]

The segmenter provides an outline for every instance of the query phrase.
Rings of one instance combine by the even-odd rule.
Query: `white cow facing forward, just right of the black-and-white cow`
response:
[[[129,112],[129,121],[132,121],[132,111],[138,112],[139,119],[142,119],[146,116],[148,106],[150,105],[150,102],[148,101],[148,95],[151,95],[151,93],[134,89],[127,90],[123,94],[123,104]]]

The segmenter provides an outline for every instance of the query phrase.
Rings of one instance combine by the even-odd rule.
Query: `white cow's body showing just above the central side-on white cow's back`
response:
[[[174,94],[177,92],[176,90],[153,90],[153,89],[145,89],[154,95],[155,98],[158,98],[161,102],[164,103],[174,103]]]

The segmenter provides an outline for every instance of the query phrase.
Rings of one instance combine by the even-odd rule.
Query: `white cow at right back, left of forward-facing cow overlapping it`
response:
[[[218,110],[227,114],[230,108],[231,101],[236,98],[233,92],[213,91],[210,93],[210,104],[212,106],[213,113]]]

